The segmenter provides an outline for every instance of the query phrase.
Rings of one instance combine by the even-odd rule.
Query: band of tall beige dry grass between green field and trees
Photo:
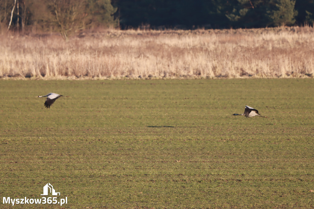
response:
[[[312,78],[313,27],[2,35],[0,77]]]

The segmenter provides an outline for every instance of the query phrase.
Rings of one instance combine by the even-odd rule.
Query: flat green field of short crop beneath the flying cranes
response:
[[[0,207],[42,198],[47,183],[66,208],[314,207],[313,90],[313,79],[1,80]],[[46,109],[36,96],[49,92],[69,97]],[[245,105],[268,118],[232,115]]]

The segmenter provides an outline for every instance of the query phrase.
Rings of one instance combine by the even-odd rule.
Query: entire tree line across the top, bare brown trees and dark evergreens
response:
[[[312,25],[314,0],[0,0],[0,32]]]

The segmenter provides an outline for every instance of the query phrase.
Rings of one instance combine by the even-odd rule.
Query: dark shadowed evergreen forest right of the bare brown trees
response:
[[[313,0],[112,0],[123,28],[229,29],[313,24]]]

